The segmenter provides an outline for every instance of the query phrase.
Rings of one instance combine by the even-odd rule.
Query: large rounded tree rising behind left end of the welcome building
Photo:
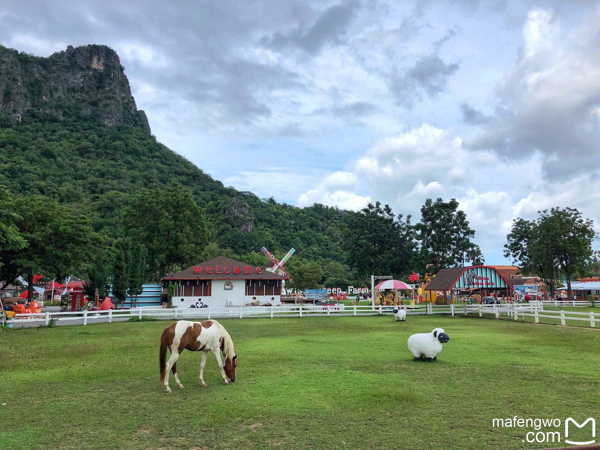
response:
[[[125,210],[124,226],[148,251],[149,278],[160,280],[175,268],[197,262],[209,232],[202,208],[190,191],[173,182],[144,190]]]

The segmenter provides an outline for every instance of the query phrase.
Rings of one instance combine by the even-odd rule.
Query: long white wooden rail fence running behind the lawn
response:
[[[467,316],[476,314],[482,317],[483,314],[494,314],[496,319],[508,317],[514,320],[533,317],[535,323],[539,323],[539,318],[550,318],[560,320],[562,325],[566,325],[568,320],[580,322],[589,322],[589,326],[595,327],[595,322],[600,320],[600,313],[580,313],[575,311],[550,311],[544,310],[544,306],[562,306],[579,307],[589,306],[589,302],[569,302],[566,304],[556,304],[551,302],[529,302],[517,303],[508,302],[500,305],[432,305],[419,304],[412,308],[407,307],[407,314],[458,314]],[[565,303],[565,302],[562,302]],[[77,311],[64,313],[31,313],[16,314],[14,319],[8,320],[8,325],[17,325],[19,323],[37,322],[40,325],[48,325],[50,320],[57,322],[79,321],[77,324],[88,325],[94,322],[113,322],[117,320],[129,319],[130,317],[156,317],[158,319],[211,319],[220,317],[304,317],[304,316],[367,316],[373,314],[391,315],[393,306],[323,306],[323,305],[281,305],[273,307],[227,307],[227,308],[189,308],[189,309],[164,309],[160,307],[140,307],[128,310],[108,310],[108,311]],[[65,325],[67,325],[65,323]]]

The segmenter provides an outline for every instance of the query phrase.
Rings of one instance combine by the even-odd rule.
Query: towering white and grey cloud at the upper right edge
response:
[[[598,169],[600,8],[567,34],[551,11],[533,8],[522,34],[518,59],[497,85],[496,113],[469,148],[511,158],[539,152],[550,179]]]

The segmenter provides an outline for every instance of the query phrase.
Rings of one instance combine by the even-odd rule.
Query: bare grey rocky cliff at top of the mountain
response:
[[[150,133],[119,56],[106,46],[68,46],[48,58],[0,46],[0,112],[20,121],[29,109],[59,118],[76,112],[107,126],[137,125]]]

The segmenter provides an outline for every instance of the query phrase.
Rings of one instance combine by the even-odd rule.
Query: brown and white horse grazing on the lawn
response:
[[[169,361],[167,361],[167,347],[171,350]],[[202,359],[200,360],[200,384],[202,386],[206,386],[202,374],[208,352],[215,355],[221,370],[221,377],[223,377],[223,384],[235,382],[235,368],[238,365],[237,356],[233,352],[231,337],[227,330],[223,328],[223,325],[218,323],[217,320],[205,320],[204,322],[179,320],[179,322],[167,326],[160,338],[160,356],[158,357],[160,382],[165,386],[167,392],[171,392],[169,388],[169,369],[173,371],[179,389],[184,387],[177,376],[177,358],[184,349],[191,350],[191,352],[202,352]],[[220,352],[223,352],[225,364],[221,362]]]

